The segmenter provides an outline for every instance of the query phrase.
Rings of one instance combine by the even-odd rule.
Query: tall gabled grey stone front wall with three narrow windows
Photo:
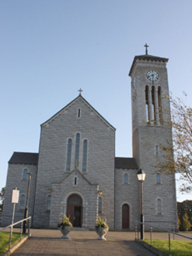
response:
[[[41,126],[34,226],[50,225],[50,212],[46,211],[45,198],[48,190],[53,190],[53,182],[60,183],[68,176],[66,162],[69,138],[72,139],[71,171],[75,168],[76,133],[80,133],[79,170],[82,172],[82,145],[86,139],[88,157],[84,175],[91,183],[99,184],[99,190],[103,191],[103,217],[113,228],[115,129],[81,97]],[[84,187],[79,189],[84,190]],[[62,193],[65,194],[65,190]],[[51,211],[54,211],[52,206]]]

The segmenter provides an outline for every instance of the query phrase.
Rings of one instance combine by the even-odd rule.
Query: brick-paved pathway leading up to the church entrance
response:
[[[140,244],[134,242],[134,233],[109,232],[106,241],[96,240],[94,231],[72,231],[71,241],[61,240],[59,230],[31,229],[32,237],[12,255],[94,255],[94,256],[154,256]]]

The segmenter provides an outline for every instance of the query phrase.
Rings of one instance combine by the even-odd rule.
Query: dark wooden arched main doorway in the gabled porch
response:
[[[72,226],[82,226],[82,198],[78,194],[68,197],[67,216],[69,215]]]

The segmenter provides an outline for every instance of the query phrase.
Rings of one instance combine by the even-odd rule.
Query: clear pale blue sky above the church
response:
[[[191,0],[1,0],[0,189],[13,151],[38,152],[40,124],[79,88],[117,129],[116,156],[132,156],[128,73],[145,43],[169,58],[169,90],[191,106],[191,9]]]

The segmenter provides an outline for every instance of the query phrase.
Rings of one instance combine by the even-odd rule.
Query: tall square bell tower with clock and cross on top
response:
[[[148,55],[134,57],[131,76],[132,147],[133,158],[146,173],[144,183],[145,221],[165,222],[170,227],[176,222],[175,177],[160,174],[155,166],[163,161],[160,144],[171,140],[172,133],[165,126],[170,118],[168,59]],[[154,223],[155,224],[155,223]],[[166,228],[167,228],[166,225]]]

